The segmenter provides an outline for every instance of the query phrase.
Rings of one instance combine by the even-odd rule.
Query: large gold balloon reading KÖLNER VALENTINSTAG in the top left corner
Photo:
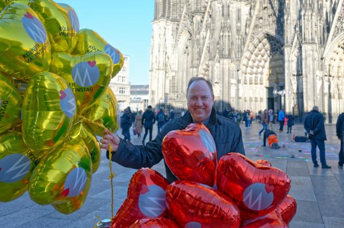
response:
[[[38,15],[29,6],[13,3],[0,13],[0,72],[17,79],[49,69],[50,43]]]

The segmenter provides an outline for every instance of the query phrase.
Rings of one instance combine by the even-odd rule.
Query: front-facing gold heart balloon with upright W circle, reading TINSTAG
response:
[[[55,52],[50,71],[63,77],[72,88],[80,114],[101,96],[110,83],[112,62],[108,55],[100,52],[85,55]]]

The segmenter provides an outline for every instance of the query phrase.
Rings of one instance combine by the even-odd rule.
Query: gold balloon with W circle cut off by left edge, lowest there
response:
[[[27,190],[39,161],[39,154],[25,146],[21,133],[0,135],[0,202],[18,198]]]

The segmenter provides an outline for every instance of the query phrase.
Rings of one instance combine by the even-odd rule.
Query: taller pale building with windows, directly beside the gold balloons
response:
[[[121,111],[130,106],[130,82],[129,66],[130,60],[128,55],[123,55],[124,64],[120,72],[110,81],[110,88],[116,96],[118,107]]]

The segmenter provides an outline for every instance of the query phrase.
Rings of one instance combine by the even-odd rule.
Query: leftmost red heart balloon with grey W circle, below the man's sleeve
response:
[[[112,228],[128,228],[146,217],[164,217],[167,185],[168,181],[158,172],[149,168],[138,170],[130,180],[127,199],[112,220]]]

